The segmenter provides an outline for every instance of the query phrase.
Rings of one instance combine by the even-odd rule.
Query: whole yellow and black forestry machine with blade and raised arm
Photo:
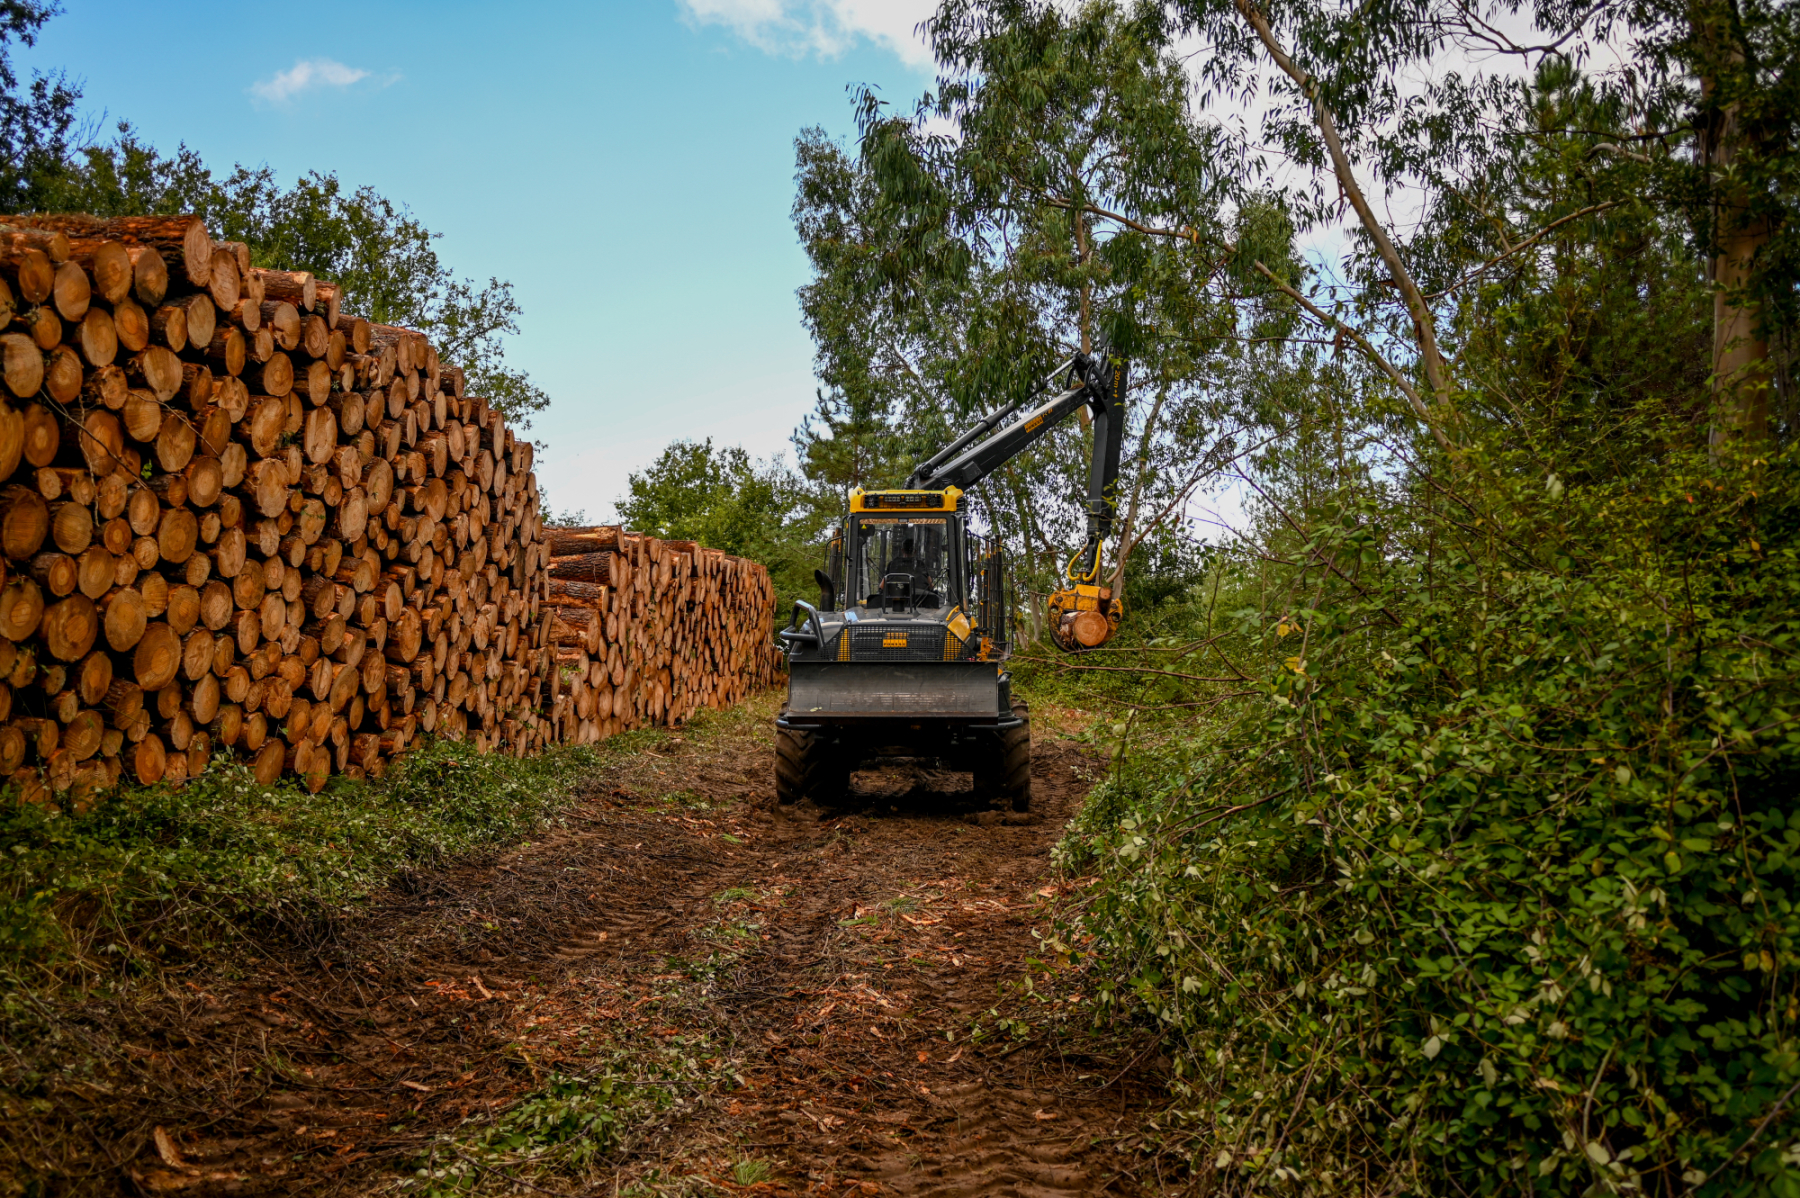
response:
[[[1030,808],[1031,716],[1012,698],[1006,673],[1001,541],[968,531],[965,493],[1080,408],[1093,414],[1094,435],[1087,541],[1049,595],[1049,631],[1058,648],[1082,649],[1118,630],[1100,550],[1112,531],[1125,362],[1075,354],[923,462],[905,487],[850,493],[830,561],[814,572],[819,606],[796,603],[779,633],[788,664],[788,700],[776,718],[779,802],[830,804],[862,763],[920,757],[974,773],[977,791],[1015,811]]]

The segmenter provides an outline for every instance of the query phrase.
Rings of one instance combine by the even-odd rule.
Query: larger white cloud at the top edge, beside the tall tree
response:
[[[918,31],[936,0],[680,0],[691,23],[724,25],[770,54],[833,58],[873,41],[916,70],[932,65]]]

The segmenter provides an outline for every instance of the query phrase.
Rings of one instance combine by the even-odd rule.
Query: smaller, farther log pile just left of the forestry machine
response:
[[[612,525],[544,536],[578,738],[682,723],[774,684],[776,592],[758,563]]]

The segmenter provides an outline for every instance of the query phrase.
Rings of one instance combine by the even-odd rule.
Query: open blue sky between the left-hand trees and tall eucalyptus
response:
[[[216,171],[371,183],[509,279],[509,360],[554,399],[540,478],[596,518],[671,439],[787,450],[814,399],[794,137],[850,133],[846,85],[931,77],[918,0],[65,5],[22,61],[92,112]]]

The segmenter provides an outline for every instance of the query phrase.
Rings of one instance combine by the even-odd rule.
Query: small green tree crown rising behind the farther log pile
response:
[[[675,441],[630,475],[617,509],[639,532],[700,541],[765,565],[778,619],[787,619],[794,599],[819,594],[812,572],[824,561],[835,513],[779,460],[754,462],[738,446],[713,448],[711,437]]]

